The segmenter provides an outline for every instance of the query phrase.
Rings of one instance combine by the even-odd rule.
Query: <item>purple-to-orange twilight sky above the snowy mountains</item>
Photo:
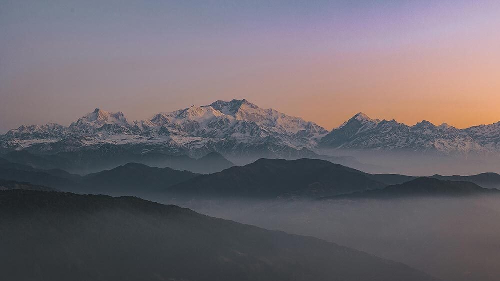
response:
[[[327,129],[500,121],[499,1],[0,0],[0,133],[246,98]]]

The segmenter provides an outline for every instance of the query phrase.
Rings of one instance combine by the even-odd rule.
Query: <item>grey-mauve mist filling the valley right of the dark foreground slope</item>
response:
[[[322,238],[446,281],[500,280],[498,195],[326,201],[148,199]]]

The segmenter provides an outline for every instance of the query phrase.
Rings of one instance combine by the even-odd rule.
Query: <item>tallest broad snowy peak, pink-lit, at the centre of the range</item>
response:
[[[193,105],[183,110],[154,115],[149,122],[154,130],[190,137],[221,138],[225,140],[259,141],[273,137],[293,146],[310,147],[311,137],[322,136],[327,131],[302,118],[288,116],[274,109],[264,109],[246,99],[218,100],[209,105]],[[146,133],[147,134],[147,133]]]

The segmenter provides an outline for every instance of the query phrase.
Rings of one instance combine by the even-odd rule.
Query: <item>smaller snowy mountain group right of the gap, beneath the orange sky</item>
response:
[[[335,149],[422,151],[441,154],[499,151],[499,126],[481,125],[457,129],[445,123],[436,126],[423,120],[413,126],[395,120],[371,119],[358,113],[320,141],[320,146]],[[493,142],[492,142],[493,141]]]

